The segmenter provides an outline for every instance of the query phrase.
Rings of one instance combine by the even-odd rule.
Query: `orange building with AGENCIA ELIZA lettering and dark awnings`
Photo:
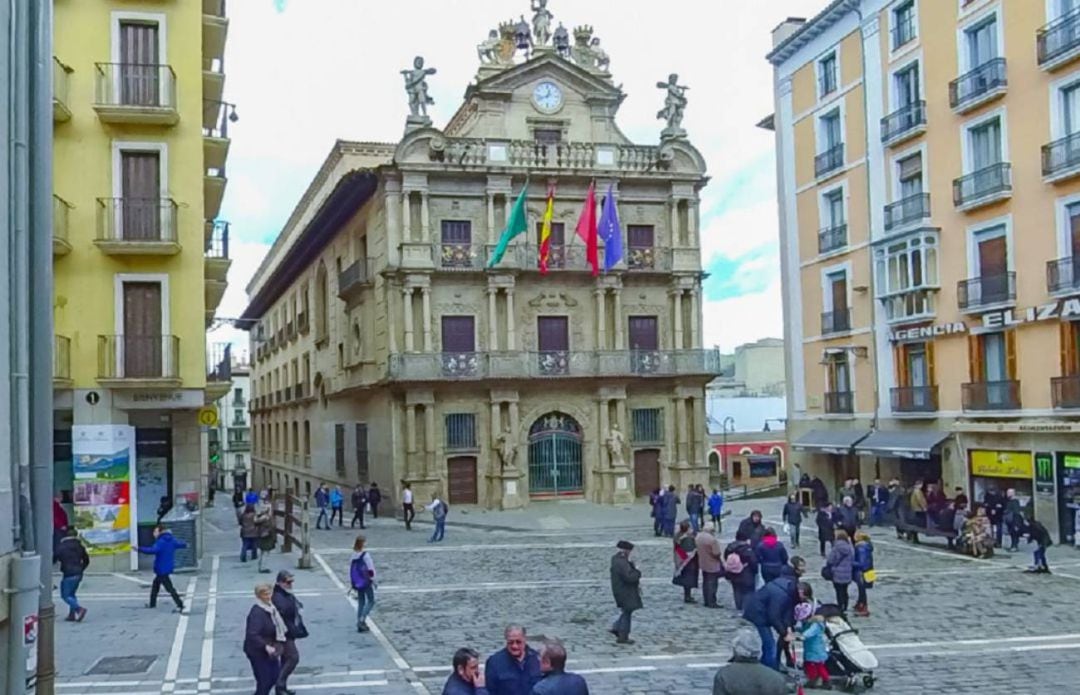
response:
[[[773,33],[795,462],[1080,501],[1080,8],[838,0]]]

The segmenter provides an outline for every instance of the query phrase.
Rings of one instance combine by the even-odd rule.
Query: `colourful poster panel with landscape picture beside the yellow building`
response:
[[[91,555],[131,555],[137,567],[135,427],[71,428],[75,527]]]

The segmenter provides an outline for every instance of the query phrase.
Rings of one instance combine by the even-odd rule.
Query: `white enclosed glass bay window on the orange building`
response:
[[[934,314],[937,289],[937,234],[920,233],[874,251],[877,297],[888,321]]]

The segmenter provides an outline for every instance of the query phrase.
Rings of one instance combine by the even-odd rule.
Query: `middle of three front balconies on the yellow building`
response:
[[[177,209],[167,197],[99,197],[94,244],[110,256],[179,254]]]

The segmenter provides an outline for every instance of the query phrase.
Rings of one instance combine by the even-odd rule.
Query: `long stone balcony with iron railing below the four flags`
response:
[[[391,381],[717,376],[715,350],[396,353]]]

